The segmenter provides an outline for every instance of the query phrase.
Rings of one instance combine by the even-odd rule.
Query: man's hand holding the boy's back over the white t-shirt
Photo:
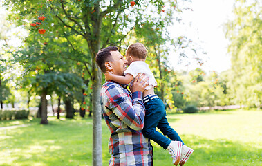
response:
[[[130,86],[131,92],[132,93],[134,93],[135,91],[144,92],[144,89],[149,85],[148,80],[149,78],[145,77],[145,74],[141,75],[141,73],[139,73],[135,77],[135,80],[133,81],[133,86]]]

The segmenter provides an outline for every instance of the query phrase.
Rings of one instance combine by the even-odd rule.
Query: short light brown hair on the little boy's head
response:
[[[127,48],[127,55],[138,57],[139,59],[146,59],[147,57],[147,48],[142,43],[131,44]]]

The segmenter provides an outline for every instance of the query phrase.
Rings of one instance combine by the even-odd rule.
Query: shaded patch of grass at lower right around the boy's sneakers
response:
[[[229,140],[208,140],[199,136],[181,136],[183,142],[194,153],[187,160],[187,166],[203,165],[262,165],[262,149],[255,148],[252,144],[232,142]],[[153,165],[171,165],[171,156],[168,151],[153,142]],[[165,163],[163,161],[165,160]]]

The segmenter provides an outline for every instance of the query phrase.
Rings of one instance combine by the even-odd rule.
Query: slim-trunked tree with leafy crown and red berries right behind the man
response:
[[[133,29],[141,27],[147,19],[150,20],[150,23],[156,23],[155,18],[161,19],[161,14],[165,13],[163,8],[176,9],[176,1],[135,1],[135,6],[131,5],[130,1],[121,0],[30,1],[30,3],[6,0],[5,2],[7,6],[13,4],[14,11],[19,11],[10,19],[19,18],[17,21],[20,24],[24,24],[26,19],[30,20],[32,24],[33,17],[36,15],[46,17],[43,24],[47,31],[53,33],[54,36],[57,33],[66,34],[66,41],[72,50],[70,53],[77,55],[83,66],[88,66],[86,70],[91,80],[93,107],[93,165],[102,165],[102,156],[100,156],[102,127],[99,100],[102,75],[95,63],[95,55],[100,48],[109,45],[119,46],[121,50],[124,40],[127,35],[131,36]],[[148,9],[154,11],[148,13],[146,12]],[[172,10],[168,11],[167,14],[171,17]],[[155,24],[149,25],[156,29]],[[165,29],[165,24],[161,28]],[[151,35],[153,34],[151,33]],[[52,35],[50,37],[52,38]],[[72,55],[67,57],[75,59]]]

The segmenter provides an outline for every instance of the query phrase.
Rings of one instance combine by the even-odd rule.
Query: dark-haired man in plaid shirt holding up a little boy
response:
[[[124,75],[127,60],[117,47],[100,50],[96,62],[103,73],[110,71]],[[111,136],[109,138],[109,165],[153,165],[153,147],[148,138],[142,135],[144,127],[144,103],[142,92],[148,85],[144,75],[135,77],[131,92],[127,85],[106,82],[100,95],[102,112]]]

